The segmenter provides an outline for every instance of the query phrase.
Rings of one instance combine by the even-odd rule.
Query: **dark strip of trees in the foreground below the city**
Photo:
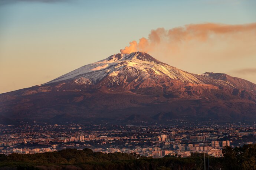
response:
[[[256,144],[243,147],[225,147],[224,157],[216,158],[206,155],[208,170],[253,170],[256,169]],[[101,153],[91,149],[65,149],[58,152],[17,154],[8,156],[0,154],[0,169],[88,169],[88,170],[202,170],[204,169],[204,154],[192,153],[190,157],[165,156],[153,159],[140,157],[137,154]]]

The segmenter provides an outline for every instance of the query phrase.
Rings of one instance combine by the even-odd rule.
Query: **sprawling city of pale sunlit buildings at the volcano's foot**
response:
[[[175,120],[163,125],[0,125],[0,154],[33,154],[62,149],[92,149],[104,153],[136,153],[160,158],[165,155],[189,157],[207,153],[221,157],[225,146],[256,143],[255,124]]]

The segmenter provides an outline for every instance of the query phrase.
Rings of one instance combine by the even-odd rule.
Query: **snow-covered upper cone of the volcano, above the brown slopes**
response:
[[[98,81],[101,81],[105,76],[115,77],[117,75],[125,76],[127,74],[129,74],[129,76],[137,76],[137,78],[155,75],[167,76],[171,79],[177,79],[183,82],[203,83],[193,74],[164,64],[144,52],[114,54],[101,61],[75,69],[48,83],[77,78],[86,78],[92,83],[98,83]]]

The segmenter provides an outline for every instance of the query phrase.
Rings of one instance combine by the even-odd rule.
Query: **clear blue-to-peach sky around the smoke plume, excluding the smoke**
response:
[[[255,0],[0,0],[0,93],[104,59],[159,27],[255,23],[255,9]],[[255,58],[244,65],[252,68]],[[244,65],[216,70],[231,73]]]

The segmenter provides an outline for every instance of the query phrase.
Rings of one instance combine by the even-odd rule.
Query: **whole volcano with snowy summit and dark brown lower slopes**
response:
[[[50,82],[0,94],[0,121],[255,121],[256,85],[192,74],[147,53],[114,54]]]

